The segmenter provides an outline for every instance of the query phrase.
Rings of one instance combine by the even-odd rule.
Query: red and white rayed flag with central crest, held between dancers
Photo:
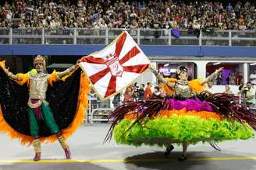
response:
[[[82,57],[80,67],[101,99],[130,85],[150,65],[148,57],[124,31],[103,50]]]

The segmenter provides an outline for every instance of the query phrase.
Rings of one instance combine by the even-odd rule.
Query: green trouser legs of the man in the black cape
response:
[[[30,107],[28,107],[28,114],[30,119],[30,134],[32,136],[39,136],[37,118],[35,116],[34,110]],[[41,116],[45,125],[49,128],[49,130],[51,130],[52,134],[56,134],[57,132],[59,132],[59,127],[56,124],[55,119],[52,115],[51,108],[44,105],[43,102],[41,104]]]

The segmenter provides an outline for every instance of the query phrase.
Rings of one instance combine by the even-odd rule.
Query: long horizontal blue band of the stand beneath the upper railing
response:
[[[104,47],[104,45],[0,45],[0,56],[37,54],[85,56]],[[256,57],[256,47],[141,45],[140,48],[148,57]]]

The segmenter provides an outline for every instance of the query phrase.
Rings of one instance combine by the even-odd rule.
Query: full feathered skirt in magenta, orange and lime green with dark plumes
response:
[[[119,106],[112,119],[105,140],[113,133],[116,143],[135,146],[247,140],[256,129],[256,115],[226,94],[130,102]]]

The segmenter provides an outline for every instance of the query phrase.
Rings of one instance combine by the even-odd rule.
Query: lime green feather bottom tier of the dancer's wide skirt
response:
[[[148,118],[145,118],[148,119]],[[189,144],[197,144],[198,141],[226,141],[247,140],[254,136],[254,130],[245,123],[241,124],[231,120],[202,119],[198,116],[172,116],[169,118],[155,118],[145,120],[144,124],[135,124],[126,134],[126,130],[133,120],[122,120],[113,130],[114,138],[118,144],[130,144],[140,146],[141,144],[166,146],[166,142],[144,142],[137,138],[154,139],[167,138],[177,142],[183,141]]]

